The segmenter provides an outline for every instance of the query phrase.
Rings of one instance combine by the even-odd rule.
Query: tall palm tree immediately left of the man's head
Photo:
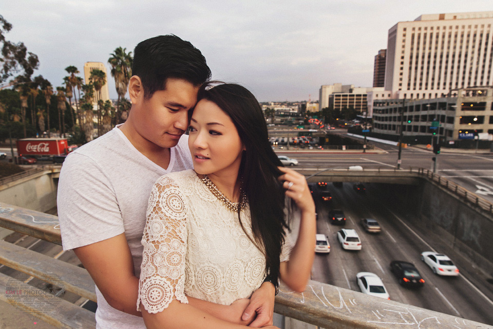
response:
[[[128,81],[132,76],[132,52],[125,53],[127,48],[118,47],[110,54],[108,63],[111,65],[111,76],[115,78],[115,88],[117,89],[117,124],[120,123],[120,100],[125,98],[127,93]]]

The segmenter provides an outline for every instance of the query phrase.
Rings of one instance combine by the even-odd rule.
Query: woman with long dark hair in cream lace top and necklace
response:
[[[303,291],[314,258],[315,205],[305,177],[281,167],[260,106],[244,87],[221,84],[203,93],[188,147],[194,170],[162,176],[151,192],[137,306],[148,328],[245,327],[187,305],[186,296],[229,305],[249,298],[266,277]],[[301,212],[292,250],[285,195]]]

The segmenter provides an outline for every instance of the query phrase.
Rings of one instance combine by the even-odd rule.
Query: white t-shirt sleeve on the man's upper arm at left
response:
[[[109,239],[124,232],[115,190],[90,157],[67,156],[56,198],[64,250]]]

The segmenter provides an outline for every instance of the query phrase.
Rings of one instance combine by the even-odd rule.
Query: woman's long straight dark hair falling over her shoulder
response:
[[[269,143],[262,109],[247,88],[232,83],[204,88],[199,99],[214,102],[229,115],[245,145],[238,177],[242,179],[241,188],[250,205],[253,242],[266,255],[269,281],[276,283],[288,225],[284,213],[285,194],[277,180],[282,174],[277,167],[282,164]],[[239,212],[238,218],[244,231]]]

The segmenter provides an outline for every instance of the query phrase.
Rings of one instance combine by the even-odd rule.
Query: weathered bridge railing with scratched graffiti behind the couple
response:
[[[0,226],[62,243],[56,216],[0,203]],[[44,291],[0,273],[0,289],[5,291],[1,300],[56,327],[96,327],[92,312],[59,297],[60,291],[66,290],[96,302],[94,283],[85,269],[5,241],[0,241],[0,263],[59,287]],[[316,281],[310,281],[301,294],[281,285],[275,312],[327,329],[489,327]]]

